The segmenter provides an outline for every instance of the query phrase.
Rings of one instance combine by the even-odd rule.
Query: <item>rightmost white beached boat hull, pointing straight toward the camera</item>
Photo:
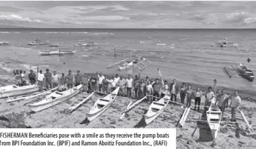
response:
[[[220,108],[215,105],[215,102],[216,98],[213,98],[210,108],[208,108],[208,111],[206,112],[207,123],[210,127],[212,138],[214,141],[217,138],[217,133],[220,129],[220,123],[222,119],[222,112],[220,111]]]

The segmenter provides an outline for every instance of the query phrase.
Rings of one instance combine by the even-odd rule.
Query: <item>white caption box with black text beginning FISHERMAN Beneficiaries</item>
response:
[[[128,131],[129,130],[129,131]],[[15,131],[15,132],[14,132]],[[44,133],[41,133],[44,132]],[[64,132],[64,133],[63,133]],[[3,129],[0,133],[1,148],[26,146],[26,148],[176,148],[176,130],[167,129]]]

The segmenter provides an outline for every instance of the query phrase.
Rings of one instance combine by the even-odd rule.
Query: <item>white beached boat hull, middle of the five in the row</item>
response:
[[[92,109],[87,113],[87,119],[89,122],[97,118],[104,111],[112,105],[114,100],[117,98],[117,93],[119,92],[119,87],[117,87],[112,93],[109,93],[104,98],[98,98],[98,100],[94,103]]]

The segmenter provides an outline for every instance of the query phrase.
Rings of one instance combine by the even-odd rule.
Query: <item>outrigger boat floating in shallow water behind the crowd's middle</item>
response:
[[[119,61],[117,63],[112,63],[111,65],[107,66],[107,68],[112,68],[114,66],[117,66],[119,64],[119,71],[127,70],[128,68],[136,67],[139,68],[139,71],[147,68],[149,65],[151,65],[151,61],[149,61],[147,58],[143,58],[139,56],[138,58],[134,59],[132,61],[132,52],[130,58],[125,58],[122,61]]]

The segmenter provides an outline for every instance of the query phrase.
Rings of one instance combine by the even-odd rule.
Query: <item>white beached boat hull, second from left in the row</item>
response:
[[[54,91],[54,93],[49,94],[42,101],[29,104],[29,108],[34,112],[39,112],[45,110],[46,108],[51,108],[76,96],[80,92],[80,88],[82,88],[82,85],[70,88],[66,91]]]

